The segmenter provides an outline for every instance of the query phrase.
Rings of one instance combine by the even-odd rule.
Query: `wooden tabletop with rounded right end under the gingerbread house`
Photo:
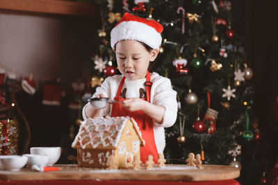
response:
[[[220,181],[239,177],[240,171],[233,166],[203,165],[201,169],[185,165],[167,165],[165,168],[151,170],[104,170],[78,168],[76,165],[56,165],[53,172],[35,172],[23,168],[19,172],[0,170],[3,181],[46,181],[46,180],[131,180],[131,181]],[[1,182],[0,182],[1,184]]]

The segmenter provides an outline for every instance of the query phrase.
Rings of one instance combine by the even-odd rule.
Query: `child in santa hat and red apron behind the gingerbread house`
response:
[[[111,30],[111,46],[122,75],[106,78],[93,97],[108,97],[122,103],[96,109],[90,103],[83,107],[83,118],[95,116],[129,116],[136,120],[145,140],[140,158],[158,159],[165,148],[164,127],[171,127],[177,118],[177,92],[168,78],[149,73],[149,62],[158,55],[163,26],[154,20],[125,13]]]

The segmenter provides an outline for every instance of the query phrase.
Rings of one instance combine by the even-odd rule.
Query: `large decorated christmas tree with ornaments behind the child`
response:
[[[101,29],[92,76],[99,80],[119,73],[109,42],[124,12],[155,19],[164,30],[151,71],[170,78],[179,103],[177,122],[165,129],[167,162],[185,164],[188,153],[194,152],[201,154],[203,164],[241,169],[240,149],[259,141],[261,134],[252,111],[253,73],[243,36],[234,29],[239,24],[231,1],[97,2]]]

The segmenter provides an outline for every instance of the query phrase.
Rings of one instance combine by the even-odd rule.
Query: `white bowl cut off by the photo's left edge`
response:
[[[21,155],[1,155],[0,161],[5,170],[19,171],[27,163],[27,157]]]

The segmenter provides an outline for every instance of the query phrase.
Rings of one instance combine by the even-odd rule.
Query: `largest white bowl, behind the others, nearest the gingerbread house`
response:
[[[54,165],[61,155],[60,147],[31,147],[30,153],[32,155],[46,155],[49,157],[49,161],[47,162],[47,166]]]

